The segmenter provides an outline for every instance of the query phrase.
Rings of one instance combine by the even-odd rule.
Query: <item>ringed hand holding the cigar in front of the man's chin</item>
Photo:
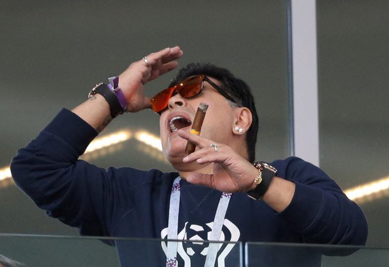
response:
[[[185,157],[182,160],[184,163],[196,161],[199,164],[214,164],[213,174],[191,173],[186,177],[188,182],[202,184],[226,193],[247,192],[255,187],[257,168],[230,146],[183,130],[178,130],[177,133],[200,148]],[[217,151],[211,144],[216,144]]]

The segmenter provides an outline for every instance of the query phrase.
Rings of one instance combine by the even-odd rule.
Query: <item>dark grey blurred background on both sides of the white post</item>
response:
[[[0,4],[0,233],[76,235],[47,218],[8,166],[62,107],[150,52],[179,45],[183,67],[211,62],[251,87],[258,160],[291,155],[287,1],[4,1]],[[389,178],[389,2],[317,0],[320,167],[344,189]],[[146,87],[152,96],[176,70]],[[171,171],[150,110],[115,119],[83,159]],[[384,186],[384,185],[382,185]],[[356,198],[369,246],[389,246],[388,194]],[[386,185],[386,188],[388,186]]]

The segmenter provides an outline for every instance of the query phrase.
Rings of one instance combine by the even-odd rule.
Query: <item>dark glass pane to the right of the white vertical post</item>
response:
[[[317,1],[320,164],[364,210],[367,244],[388,246],[389,2]]]

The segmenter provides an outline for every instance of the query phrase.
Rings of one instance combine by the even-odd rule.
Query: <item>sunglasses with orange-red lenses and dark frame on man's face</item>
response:
[[[218,87],[214,82],[212,82],[211,79],[209,79],[206,75],[202,74],[189,77],[183,80],[182,82],[176,84],[175,86],[169,87],[168,89],[159,92],[150,100],[152,110],[157,113],[161,113],[161,111],[168,106],[169,99],[175,93],[180,94],[180,96],[182,96],[183,98],[189,98],[200,94],[204,87],[204,81],[208,82],[222,96],[234,103],[237,103],[234,99],[232,99],[232,97],[227,95],[220,89],[220,87]]]

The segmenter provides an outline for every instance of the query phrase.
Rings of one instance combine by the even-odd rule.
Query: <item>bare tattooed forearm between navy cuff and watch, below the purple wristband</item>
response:
[[[93,95],[71,111],[96,129],[98,133],[112,121],[108,102],[100,94]]]

